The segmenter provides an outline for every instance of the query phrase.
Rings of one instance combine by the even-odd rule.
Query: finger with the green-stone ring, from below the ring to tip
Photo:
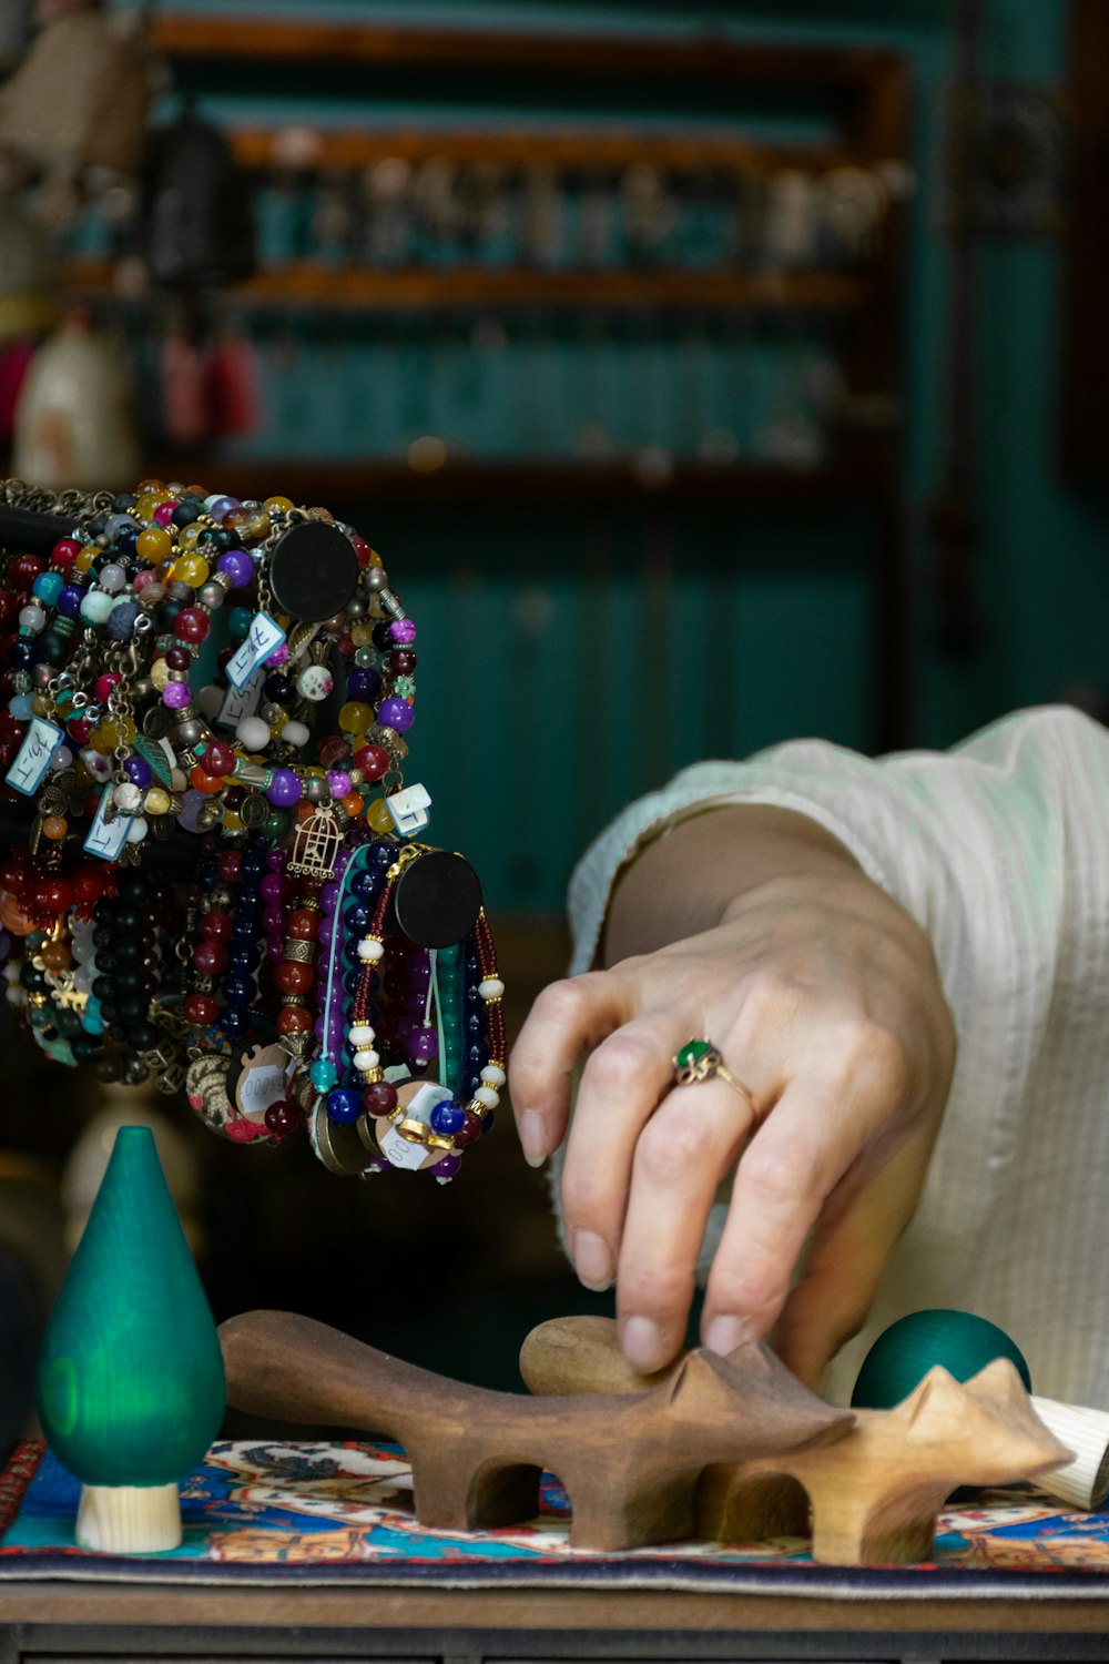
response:
[[[685,1340],[708,1210],[753,1120],[747,1097],[707,1080],[670,1092],[638,1137],[617,1278],[620,1343],[638,1371]]]

